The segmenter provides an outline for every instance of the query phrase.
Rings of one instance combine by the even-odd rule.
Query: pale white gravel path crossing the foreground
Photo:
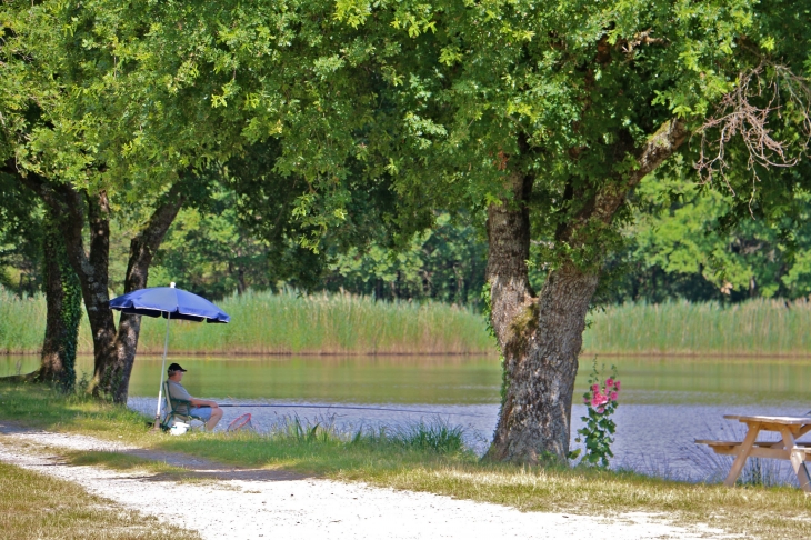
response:
[[[212,481],[120,472],[63,462],[60,451],[104,450],[187,467]],[[651,514],[619,519],[515,509],[450,497],[394,491],[293,473],[231,468],[188,456],[147,451],[91,437],[22,429],[0,422],[0,461],[73,481],[88,491],[204,539],[621,539],[719,538]],[[189,501],[178,503],[178,501]],[[182,508],[186,507],[187,510]]]

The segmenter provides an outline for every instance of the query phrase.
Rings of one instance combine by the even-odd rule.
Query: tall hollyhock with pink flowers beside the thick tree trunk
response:
[[[609,466],[609,458],[614,457],[611,444],[614,442],[612,436],[617,431],[617,423],[611,416],[617,410],[619,391],[620,381],[617,380],[617,368],[612,366],[611,377],[603,381],[597,369],[597,358],[594,358],[589,377],[589,390],[583,393],[583,402],[589,412],[581,418],[585,424],[578,430],[578,437],[574,439],[575,442],[585,443],[581,463],[604,469]],[[580,449],[571,452],[569,457],[575,459],[579,454]]]

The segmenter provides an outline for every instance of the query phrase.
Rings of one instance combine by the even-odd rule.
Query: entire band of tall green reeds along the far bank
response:
[[[352,294],[247,292],[218,304],[230,324],[172,321],[173,353],[440,354],[490,353],[481,314],[437,302],[379,302]],[[685,301],[611,306],[590,316],[583,352],[613,354],[811,356],[811,302],[751,300],[733,306]],[[0,353],[38,352],[42,296],[0,288]],[[166,320],[144,317],[140,353],[163,350]],[[87,318],[79,352],[92,353]]]

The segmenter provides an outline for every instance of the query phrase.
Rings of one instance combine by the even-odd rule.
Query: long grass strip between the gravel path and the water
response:
[[[27,414],[31,411],[33,414]],[[762,538],[811,536],[811,500],[793,488],[733,489],[678,482],[633,471],[522,468],[481,462],[449,426],[338,433],[329,421],[293,417],[268,434],[154,434],[123,408],[0,384],[0,417],[46,429],[81,431],[150,449],[182,451],[242,467],[287,469],[338,480],[495,502],[521,510],[618,516],[651,512],[677,524],[708,523]],[[98,453],[98,452],[97,452]],[[113,460],[91,456],[90,460]],[[118,459],[118,458],[114,458]],[[126,464],[130,467],[131,464]]]

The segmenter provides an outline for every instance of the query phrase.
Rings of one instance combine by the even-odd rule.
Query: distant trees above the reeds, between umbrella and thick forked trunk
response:
[[[150,284],[176,281],[211,299],[249,288],[292,286],[379,300],[479,303],[473,291],[484,280],[487,246],[472,226],[455,224],[448,214],[402,247],[380,239],[346,249],[333,246],[314,254],[289,238],[257,237],[238,216],[236,198],[233,192],[218,192],[209,202],[211,209],[181,210],[157,253]],[[118,290],[128,254],[123,248],[119,247],[113,261]]]

